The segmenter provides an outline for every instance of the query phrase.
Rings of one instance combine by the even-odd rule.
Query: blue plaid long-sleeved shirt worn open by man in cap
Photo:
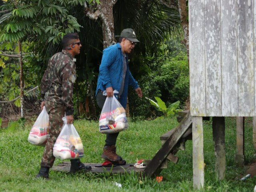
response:
[[[126,108],[126,100],[128,96],[128,86],[132,86],[135,89],[139,87],[138,82],[133,78],[129,66],[128,57],[126,55],[126,75],[124,80],[124,90],[120,96],[120,104]],[[119,92],[123,75],[123,53],[120,43],[109,46],[103,50],[102,60],[100,64],[100,73],[98,76],[98,84],[96,88],[96,94],[98,90],[106,90],[108,87],[112,87],[113,90]]]

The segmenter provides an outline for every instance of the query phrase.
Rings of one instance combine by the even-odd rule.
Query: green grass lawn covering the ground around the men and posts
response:
[[[246,163],[254,161],[252,145],[252,118],[245,121],[245,155]],[[43,148],[27,142],[28,133],[33,123],[14,132],[0,130],[0,191],[193,191],[192,173],[192,141],[186,142],[186,150],[179,151],[177,164],[169,162],[168,168],[160,175],[163,181],[158,183],[155,178],[145,178],[139,182],[134,173],[124,175],[110,174],[76,174],[50,170],[50,180],[35,179],[40,168]],[[234,164],[236,154],[236,119],[226,118],[226,179],[218,181],[214,172],[215,156],[212,141],[212,122],[204,121],[204,190],[209,192],[253,191],[256,178],[248,178],[244,182],[239,179],[246,169]],[[117,153],[128,163],[136,159],[152,159],[161,146],[159,137],[178,125],[176,118],[155,121],[129,122],[128,130],[121,132],[117,140]],[[82,162],[101,163],[100,158],[104,146],[105,135],[98,131],[97,122],[79,120],[74,122],[84,144]],[[56,159],[54,165],[61,160]],[[118,188],[113,182],[122,184]]]

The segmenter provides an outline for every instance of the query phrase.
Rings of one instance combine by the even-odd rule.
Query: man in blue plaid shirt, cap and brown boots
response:
[[[109,46],[103,50],[103,56],[100,64],[100,73],[96,89],[96,100],[98,106],[102,109],[106,96],[102,93],[106,90],[107,96],[113,96],[113,90],[117,90],[120,104],[126,108],[128,86],[142,97],[142,91],[138,82],[134,80],[128,66],[127,54],[132,52],[136,43],[134,30],[128,28],[121,32],[119,43]],[[106,134],[105,146],[102,158],[116,165],[124,165],[126,161],[116,154],[116,139],[119,133]]]

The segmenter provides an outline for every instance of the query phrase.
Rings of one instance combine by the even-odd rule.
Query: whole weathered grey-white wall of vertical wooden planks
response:
[[[256,116],[255,4],[189,0],[192,116]]]

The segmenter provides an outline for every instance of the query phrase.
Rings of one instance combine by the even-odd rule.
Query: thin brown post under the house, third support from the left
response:
[[[236,117],[236,165],[243,167],[244,158],[244,117]]]

